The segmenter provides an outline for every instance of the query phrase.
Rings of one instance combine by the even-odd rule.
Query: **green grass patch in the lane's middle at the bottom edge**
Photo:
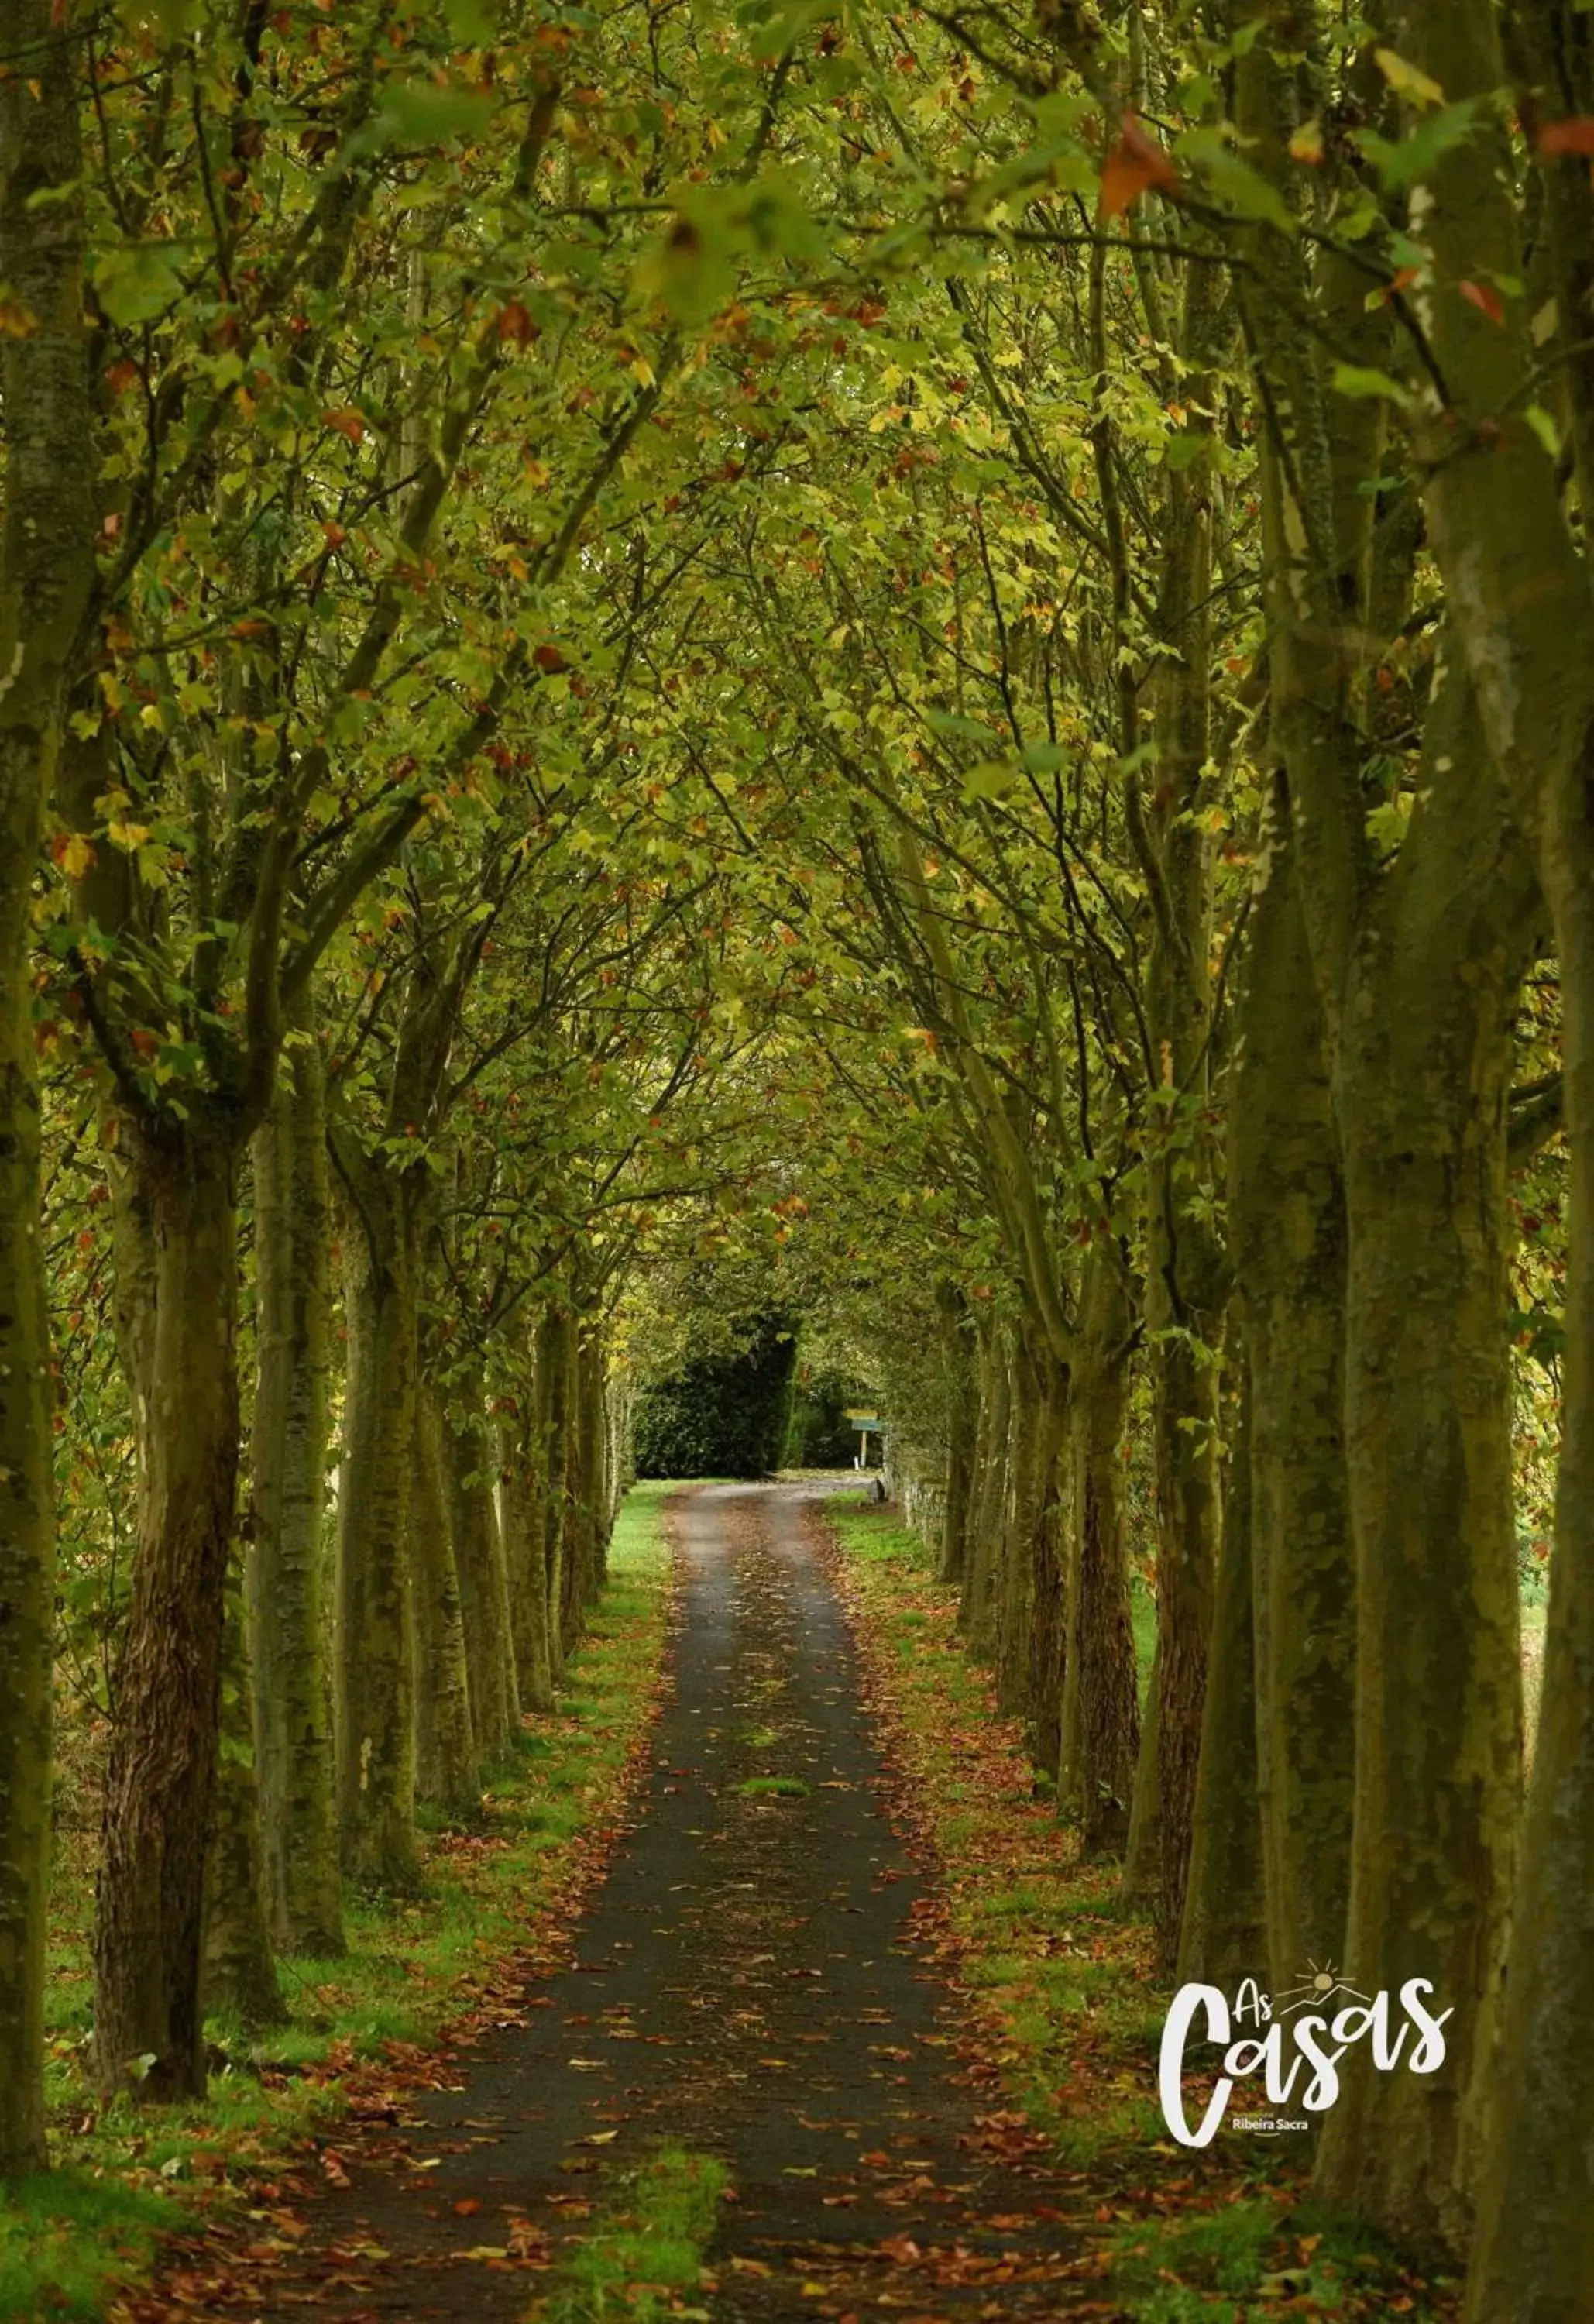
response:
[[[658,2147],[630,2178],[618,2203],[574,2254],[532,2308],[546,2324],[655,2324],[662,2317],[697,2315],[683,2308],[702,2284],[704,2250],[713,2240],[720,2196],[730,2182],[713,2154]]]

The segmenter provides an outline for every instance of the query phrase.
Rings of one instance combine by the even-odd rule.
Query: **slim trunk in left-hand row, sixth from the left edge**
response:
[[[409,1485],[409,1569],[416,1601],[416,1789],[448,1815],[472,1815],[481,1801],[476,1731],[460,1571],[444,1473],[441,1399],[430,1380],[416,1390],[416,1450]]]

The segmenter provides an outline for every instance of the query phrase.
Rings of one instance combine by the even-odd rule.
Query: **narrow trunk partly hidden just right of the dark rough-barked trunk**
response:
[[[265,1896],[265,1845],[256,1783],[249,1638],[242,1587],[228,1583],[221,1641],[221,1750],[216,1808],[204,1862],[204,2010],[232,2010],[244,2027],[274,2027],[288,2015]]]

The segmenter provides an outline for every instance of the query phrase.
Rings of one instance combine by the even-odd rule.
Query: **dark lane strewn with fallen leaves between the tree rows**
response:
[[[302,2243],[260,2254],[253,2298],[214,2315],[523,2317],[539,2254],[662,2138],[732,2173],[711,2254],[723,2324],[1043,2317],[1080,2296],[1055,2189],[971,2087],[916,1959],[922,1887],[813,1490],[699,1487],[676,1538],[674,1687],[576,1964],[397,2131],[339,2138],[351,2185],[309,2208]]]

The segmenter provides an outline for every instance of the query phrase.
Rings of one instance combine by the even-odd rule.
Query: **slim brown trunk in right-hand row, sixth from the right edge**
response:
[[[1118,1269],[1092,1255],[1080,1285],[1080,1353],[1074,1371],[1078,1520],[1069,1559],[1057,1778],[1060,1806],[1078,1813],[1085,1855],[1125,1850],[1141,1741],[1120,1462],[1127,1329],[1129,1308]]]

